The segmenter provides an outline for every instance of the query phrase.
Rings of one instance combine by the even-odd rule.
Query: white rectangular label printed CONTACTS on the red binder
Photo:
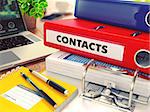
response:
[[[52,30],[46,30],[46,41],[99,56],[123,61],[124,46],[122,45]]]

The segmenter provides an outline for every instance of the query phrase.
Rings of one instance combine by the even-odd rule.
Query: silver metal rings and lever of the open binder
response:
[[[83,76],[82,76],[82,94],[81,94],[82,98],[91,99],[91,100],[94,100],[94,99],[92,99],[92,97],[90,98],[90,97],[85,95],[85,92],[86,92],[85,82],[86,82],[86,76],[87,76],[88,68],[90,67],[90,65],[92,64],[93,61],[94,61],[94,59],[91,59],[85,66],[85,71],[84,71]],[[130,91],[129,91],[129,97],[119,96],[119,95],[116,95],[116,94],[107,96],[107,95],[102,94],[102,93],[100,93],[99,96],[112,98],[114,103],[116,104],[117,108],[120,108],[120,110],[133,111],[133,107],[132,107],[133,106],[132,105],[133,102],[138,102],[138,103],[144,104],[143,102],[135,101],[135,100],[132,99],[133,98],[133,94],[134,94],[133,91],[134,91],[134,88],[135,88],[135,82],[136,82],[137,77],[138,77],[138,70],[136,70],[134,72],[134,77],[133,77],[133,80],[132,80],[132,83],[131,83],[131,87],[130,87]],[[109,89],[111,91],[111,85],[107,86],[106,89]],[[125,105],[125,104],[122,104],[122,103],[118,102],[117,97],[125,98],[126,100],[128,100],[128,104]]]

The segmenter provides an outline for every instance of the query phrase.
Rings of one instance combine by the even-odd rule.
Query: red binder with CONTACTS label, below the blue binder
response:
[[[44,25],[44,44],[114,65],[150,71],[149,33],[81,19]]]

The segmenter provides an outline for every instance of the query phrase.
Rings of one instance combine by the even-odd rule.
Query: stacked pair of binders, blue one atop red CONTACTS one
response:
[[[44,43],[149,74],[149,7],[132,1],[77,0],[77,19],[46,22]]]

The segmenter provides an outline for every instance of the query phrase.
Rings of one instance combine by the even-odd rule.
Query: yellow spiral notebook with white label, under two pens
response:
[[[55,109],[35,93],[35,89],[22,76],[25,73],[34,83],[45,91],[58,105]],[[64,106],[78,94],[75,86],[48,77],[69,91],[67,96],[48,86],[29,72],[28,68],[19,67],[0,77],[0,112],[60,112]],[[16,100],[17,99],[17,100]]]

